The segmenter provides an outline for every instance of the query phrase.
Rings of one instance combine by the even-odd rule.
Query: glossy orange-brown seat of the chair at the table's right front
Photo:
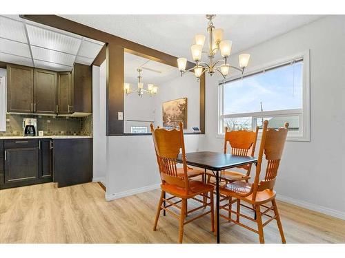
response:
[[[237,197],[250,204],[264,204],[275,198],[275,191],[269,189],[257,192],[255,200],[253,200],[253,194],[250,194],[245,197],[240,196],[250,193],[251,186],[252,184],[250,183],[236,181],[230,184],[226,184],[226,186],[219,188],[219,193],[221,193],[221,195]]]

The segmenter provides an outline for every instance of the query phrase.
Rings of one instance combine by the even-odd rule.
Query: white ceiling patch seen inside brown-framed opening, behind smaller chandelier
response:
[[[164,65],[164,63],[158,63],[134,54],[125,53],[124,60],[125,83],[131,83],[132,87],[136,87],[135,84],[138,82],[137,69],[139,67],[143,70],[141,76],[145,85],[152,83],[159,86],[168,80],[181,76],[179,69],[176,67]]]

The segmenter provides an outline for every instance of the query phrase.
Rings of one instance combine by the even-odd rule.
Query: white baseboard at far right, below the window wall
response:
[[[338,219],[344,219],[345,220],[345,213],[342,211],[333,210],[332,208],[327,208],[324,206],[319,206],[316,204],[311,204],[310,202],[304,202],[301,200],[296,200],[291,197],[287,197],[284,195],[277,194],[277,200],[282,202],[287,202],[288,204],[293,204],[302,208],[307,208],[311,211],[317,211],[318,213],[323,213],[326,215],[330,215],[332,217],[337,217]]]

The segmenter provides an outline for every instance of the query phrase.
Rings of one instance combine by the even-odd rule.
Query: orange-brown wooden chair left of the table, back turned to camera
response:
[[[157,228],[157,222],[161,210],[167,211],[177,219],[179,219],[179,243],[182,243],[184,235],[184,225],[189,222],[194,221],[195,219],[202,217],[208,213],[211,215],[211,230],[214,231],[214,211],[213,211],[213,185],[206,184],[201,181],[192,180],[188,177],[188,166],[186,164],[186,151],[184,148],[184,133],[183,133],[183,124],[180,122],[179,128],[166,130],[166,129],[154,129],[153,125],[150,125],[153,142],[155,143],[155,150],[157,153],[157,163],[159,167],[159,174],[161,176],[161,197],[159,199],[159,204],[157,208],[157,214],[155,218],[155,225],[153,230]],[[183,170],[179,173],[177,169],[177,155],[182,153],[183,160]],[[169,193],[172,197],[166,198],[165,193]],[[208,197],[210,193],[210,197]],[[210,202],[204,202],[199,200],[197,196],[203,198],[208,198]],[[179,200],[174,201],[172,199],[178,198]],[[187,212],[187,200],[194,199],[198,202],[201,202],[201,206],[193,208]],[[163,202],[167,202],[167,206],[162,206]],[[181,202],[181,206],[178,204]],[[173,212],[169,207],[179,208],[181,213]],[[201,208],[206,208],[210,206],[210,210],[185,221],[186,213],[192,213]]]

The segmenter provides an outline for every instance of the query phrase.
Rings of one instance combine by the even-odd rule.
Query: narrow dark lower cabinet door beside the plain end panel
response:
[[[39,178],[52,177],[52,149],[51,139],[39,140],[40,158]]]

